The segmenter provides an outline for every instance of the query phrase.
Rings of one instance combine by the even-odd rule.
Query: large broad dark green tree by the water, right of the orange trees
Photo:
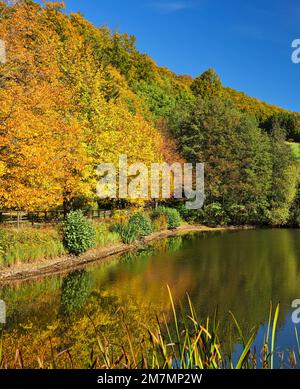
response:
[[[272,179],[271,145],[252,117],[221,99],[199,99],[175,135],[186,160],[205,163],[206,207],[220,204],[229,219],[240,213],[244,222],[263,221]]]

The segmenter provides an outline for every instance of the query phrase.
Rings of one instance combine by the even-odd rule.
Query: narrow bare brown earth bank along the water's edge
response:
[[[237,230],[252,227],[207,227],[202,225],[185,225],[176,230],[164,230],[155,232],[134,244],[114,243],[104,247],[87,251],[80,256],[63,255],[57,258],[41,259],[33,263],[23,263],[11,267],[0,267],[0,286],[11,282],[27,281],[30,279],[42,278],[54,274],[67,273],[74,269],[79,269],[87,264],[107,261],[112,256],[134,251],[145,244],[169,238],[172,236],[184,235],[193,232],[210,232]]]

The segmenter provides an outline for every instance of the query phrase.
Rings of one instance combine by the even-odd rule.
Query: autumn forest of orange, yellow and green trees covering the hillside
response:
[[[300,225],[300,116],[159,67],[136,39],[64,3],[0,2],[0,209],[129,207],[96,196],[96,167],[204,162],[195,223]],[[199,64],[201,68],[201,64]],[[134,205],[134,204],[133,204]]]

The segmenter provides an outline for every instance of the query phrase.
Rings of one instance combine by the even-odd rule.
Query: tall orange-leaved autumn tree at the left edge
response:
[[[0,25],[7,47],[0,90],[1,204],[48,209],[82,189],[81,128],[60,81],[58,37],[40,7],[21,1],[7,12]]]

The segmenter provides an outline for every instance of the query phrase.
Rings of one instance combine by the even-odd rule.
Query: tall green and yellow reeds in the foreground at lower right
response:
[[[231,313],[242,345],[240,355],[233,362],[233,355],[228,355],[222,348],[218,335],[217,317],[215,316],[212,320],[207,318],[201,322],[189,296],[187,297],[189,312],[185,313],[182,308],[178,312],[169,288],[168,292],[173,312],[171,325],[165,316],[157,317],[155,328],[143,325],[148,339],[145,338],[139,348],[134,346],[128,331],[129,348],[128,350],[123,348],[121,354],[116,352],[114,344],[109,343],[106,338],[98,334],[100,357],[93,361],[92,366],[104,369],[256,369],[259,366],[264,369],[274,369],[279,305],[274,313],[272,306],[270,306],[267,335],[262,345],[261,356],[257,356],[254,348],[259,326],[253,328],[251,334],[246,338],[238,321]],[[124,325],[126,329],[126,323]],[[298,356],[292,352],[289,355],[291,367],[296,367],[300,361],[299,342],[297,353]]]

